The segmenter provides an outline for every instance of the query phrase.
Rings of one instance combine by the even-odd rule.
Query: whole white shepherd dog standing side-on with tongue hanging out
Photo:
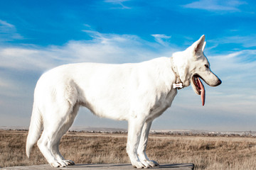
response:
[[[50,69],[36,84],[27,156],[37,142],[51,166],[75,164],[63,158],[58,146],[80,106],[85,106],[100,117],[128,121],[127,154],[132,166],[159,166],[146,156],[152,121],[171,106],[177,89],[192,84],[193,91],[201,95],[204,103],[200,79],[209,86],[221,84],[203,54],[205,45],[203,35],[172,57],[134,64],[65,64]]]

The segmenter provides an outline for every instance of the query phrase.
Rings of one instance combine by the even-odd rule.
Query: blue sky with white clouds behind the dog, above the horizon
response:
[[[0,126],[28,126],[33,89],[48,69],[73,62],[171,57],[206,35],[205,54],[222,79],[206,105],[178,91],[153,129],[256,130],[255,1],[21,1],[0,6]],[[81,108],[74,126],[127,128]]]

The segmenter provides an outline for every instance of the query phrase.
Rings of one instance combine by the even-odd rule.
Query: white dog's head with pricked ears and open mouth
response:
[[[173,60],[183,86],[192,84],[193,91],[198,95],[201,95],[202,90],[204,91],[200,79],[203,79],[209,86],[221,84],[221,80],[210,70],[210,63],[203,54],[205,46],[205,35],[202,35],[199,40],[194,42],[185,51],[176,52],[173,55]]]

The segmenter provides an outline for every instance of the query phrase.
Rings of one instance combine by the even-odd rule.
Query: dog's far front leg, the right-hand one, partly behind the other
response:
[[[152,120],[144,123],[144,126],[142,128],[142,136],[139,141],[137,153],[139,156],[139,160],[142,162],[142,164],[149,164],[150,166],[159,166],[157,162],[149,160],[149,158],[146,156],[146,145],[149,139],[149,130],[151,128],[151,124]]]

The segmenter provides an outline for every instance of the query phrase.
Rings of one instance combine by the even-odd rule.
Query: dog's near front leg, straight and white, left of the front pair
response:
[[[149,164],[139,161],[137,149],[142,135],[144,120],[142,118],[130,118],[128,121],[127,154],[134,168],[148,168]]]

